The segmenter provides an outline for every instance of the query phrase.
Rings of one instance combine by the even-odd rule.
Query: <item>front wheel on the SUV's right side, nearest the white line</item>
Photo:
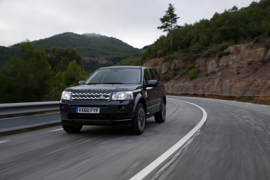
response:
[[[143,104],[138,103],[136,114],[134,119],[132,120],[132,125],[129,131],[132,134],[140,135],[143,134],[145,128],[145,108]]]

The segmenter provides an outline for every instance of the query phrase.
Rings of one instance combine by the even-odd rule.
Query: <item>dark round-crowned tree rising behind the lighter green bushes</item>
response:
[[[75,60],[77,64],[81,65],[83,63],[82,55],[78,51],[73,48],[67,47],[62,49],[57,46],[56,48],[52,48],[52,54],[47,55],[47,61],[51,65],[52,70],[56,71],[59,62],[61,62],[61,69],[66,69],[69,62]],[[63,67],[64,66],[64,67]]]

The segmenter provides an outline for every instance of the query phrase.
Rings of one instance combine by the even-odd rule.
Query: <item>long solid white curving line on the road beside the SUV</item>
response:
[[[167,99],[172,99],[172,98],[167,98]],[[181,101],[181,100],[178,100],[178,99],[173,99],[173,100]],[[182,101],[182,102],[186,102],[186,101]],[[187,103],[193,104],[191,102],[187,102]],[[169,148],[168,151],[166,151],[164,154],[159,156],[159,158],[154,160],[150,165],[145,167],[143,170],[141,170],[138,174],[136,174],[135,176],[133,176],[129,180],[142,180],[143,178],[145,178],[145,176],[147,176],[156,167],[158,167],[164,160],[169,158],[170,155],[172,155],[181,146],[183,146],[183,144],[185,144],[185,142],[187,142],[197,132],[197,130],[199,130],[199,128],[205,123],[205,121],[207,119],[206,111],[202,107],[200,107],[200,106],[198,106],[196,104],[193,104],[193,105],[199,107],[201,109],[201,111],[203,112],[203,117],[201,118],[200,122],[189,133],[187,133],[185,135],[185,137],[183,137],[180,141],[178,141],[174,146]]]

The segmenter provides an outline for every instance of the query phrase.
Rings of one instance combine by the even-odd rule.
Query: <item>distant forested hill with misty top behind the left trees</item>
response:
[[[95,33],[80,35],[66,32],[33,42],[36,48],[44,48],[46,54],[55,46],[71,47],[88,57],[128,57],[140,51],[119,39]],[[0,46],[0,67],[4,66],[10,57],[19,57],[20,44],[10,47]]]

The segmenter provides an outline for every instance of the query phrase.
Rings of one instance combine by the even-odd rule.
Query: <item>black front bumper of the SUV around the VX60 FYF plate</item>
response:
[[[125,106],[125,111],[120,110],[121,106]],[[76,113],[76,107],[99,108],[99,113]],[[135,115],[134,110],[134,100],[109,102],[60,101],[62,124],[70,126],[114,125],[115,127],[131,127]]]

